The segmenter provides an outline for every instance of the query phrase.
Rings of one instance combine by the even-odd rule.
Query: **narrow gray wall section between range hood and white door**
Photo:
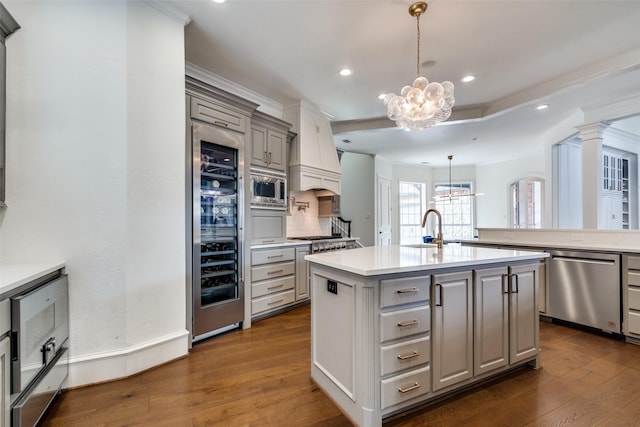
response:
[[[375,245],[375,159],[369,154],[347,153],[342,168],[342,218],[351,220],[351,235],[365,246]]]

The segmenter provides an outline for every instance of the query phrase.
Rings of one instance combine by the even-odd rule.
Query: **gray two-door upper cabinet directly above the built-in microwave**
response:
[[[287,170],[287,132],[291,125],[256,111],[251,117],[251,164]]]

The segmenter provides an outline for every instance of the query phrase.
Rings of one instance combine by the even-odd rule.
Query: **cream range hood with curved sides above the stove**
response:
[[[340,194],[342,173],[329,119],[304,100],[285,106],[283,118],[298,134],[289,148],[289,190]]]

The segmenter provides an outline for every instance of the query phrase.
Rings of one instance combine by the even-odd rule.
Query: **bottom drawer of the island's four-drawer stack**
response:
[[[416,369],[381,381],[380,406],[382,410],[414,397],[429,393],[429,367]]]

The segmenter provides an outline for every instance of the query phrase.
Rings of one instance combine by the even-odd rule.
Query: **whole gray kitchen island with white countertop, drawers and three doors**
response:
[[[311,376],[359,426],[508,370],[539,366],[546,253],[449,244],[305,257]]]

